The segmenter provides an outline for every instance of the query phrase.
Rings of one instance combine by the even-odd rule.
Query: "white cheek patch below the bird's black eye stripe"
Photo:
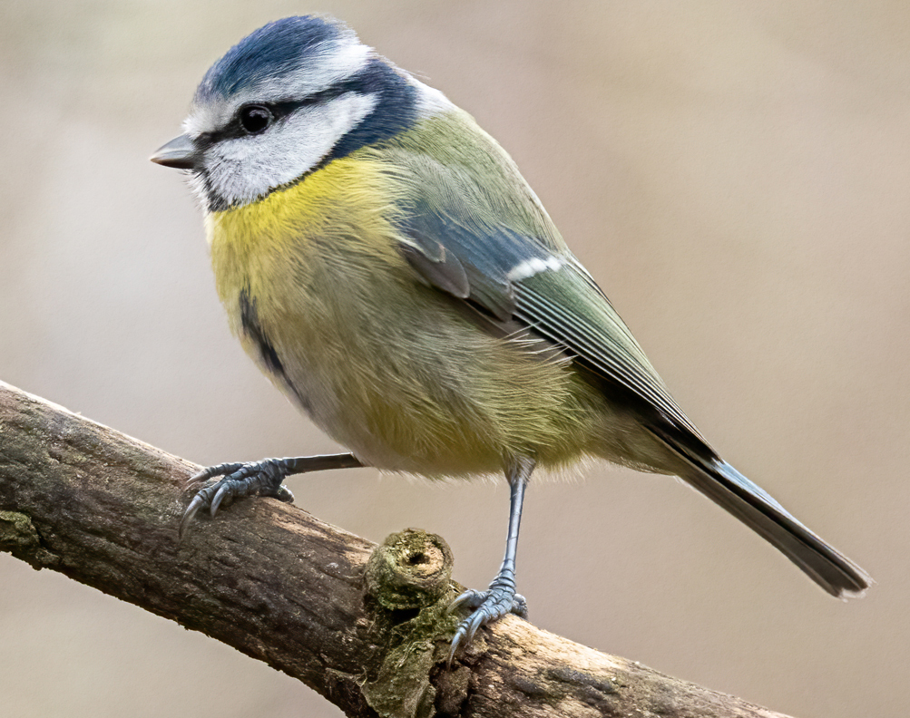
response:
[[[262,135],[222,141],[206,153],[208,184],[227,204],[248,204],[319,165],[376,102],[349,93],[298,110]]]

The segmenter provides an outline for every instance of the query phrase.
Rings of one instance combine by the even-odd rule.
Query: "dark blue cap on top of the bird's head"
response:
[[[315,15],[285,17],[263,25],[208,69],[197,88],[196,102],[204,103],[213,95],[228,97],[270,77],[286,75],[342,37],[357,42],[348,25]]]

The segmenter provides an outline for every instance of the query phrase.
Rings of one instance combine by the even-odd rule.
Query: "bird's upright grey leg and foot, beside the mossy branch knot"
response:
[[[531,479],[534,462],[519,457],[506,468],[506,476],[511,488],[509,511],[509,536],[506,539],[506,554],[502,559],[500,573],[490,583],[487,591],[465,591],[450,605],[454,612],[461,606],[469,606],[473,611],[459,624],[455,637],[452,638],[449,652],[449,663],[455,656],[460,644],[467,645],[481,625],[496,621],[506,613],[515,613],[521,618],[528,616],[528,604],[521,593],[515,593],[515,553],[518,551],[518,532],[521,526],[521,505],[524,503],[524,490]]]

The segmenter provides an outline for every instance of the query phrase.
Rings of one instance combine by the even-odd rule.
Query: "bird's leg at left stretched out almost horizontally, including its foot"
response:
[[[325,469],[351,469],[363,466],[354,454],[326,454],[323,456],[298,456],[287,459],[263,459],[248,464],[217,464],[209,466],[190,477],[187,486],[208,482],[200,489],[187,506],[180,520],[179,534],[182,537],[193,517],[201,510],[208,509],[214,516],[218,507],[230,504],[240,496],[274,496],[291,503],[294,494],[283,485],[286,476],[308,474]],[[216,476],[223,478],[210,481]],[[227,505],[225,504],[225,505]]]

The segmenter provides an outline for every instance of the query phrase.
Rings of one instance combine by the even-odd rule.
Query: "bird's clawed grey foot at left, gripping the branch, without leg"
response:
[[[217,464],[193,475],[187,485],[207,483],[199,489],[180,520],[179,534],[182,537],[196,514],[208,509],[214,516],[222,505],[231,504],[241,496],[274,496],[288,504],[294,501],[294,494],[281,482],[293,473],[292,462],[297,459],[264,459],[248,464]],[[223,478],[217,479],[217,476]]]

